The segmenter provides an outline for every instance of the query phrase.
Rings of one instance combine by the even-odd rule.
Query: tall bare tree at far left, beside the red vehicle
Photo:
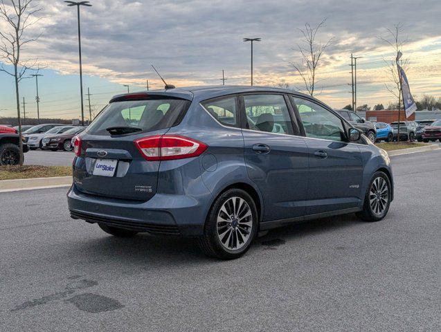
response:
[[[0,31],[0,71],[7,73],[15,78],[15,97],[17,102],[17,120],[19,133],[21,133],[20,118],[20,98],[19,82],[26,77],[26,71],[35,70],[37,59],[21,60],[21,50],[23,46],[35,42],[39,36],[28,38],[24,37],[25,30],[35,24],[39,19],[33,19],[35,13],[42,10],[33,6],[33,0],[10,0],[8,5],[4,0],[0,0],[0,19],[6,24],[6,28]],[[4,64],[14,67],[13,71],[5,68]],[[19,139],[20,165],[23,165],[23,144]]]

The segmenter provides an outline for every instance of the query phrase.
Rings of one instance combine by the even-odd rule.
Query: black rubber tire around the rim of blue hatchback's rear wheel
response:
[[[221,239],[219,239],[219,237],[222,237],[222,234],[220,235],[218,234],[217,217],[218,214],[221,213],[220,210],[224,206],[224,204],[228,204],[228,201],[231,201],[231,199],[233,198],[243,199],[247,203],[248,206],[246,208],[249,208],[251,212],[251,230],[247,228],[249,232],[248,234],[246,234],[246,236],[249,237],[248,239],[246,239],[246,241],[242,241],[241,243],[242,248],[230,250],[225,247],[228,246],[229,243],[228,239],[230,237],[228,237],[228,239],[226,240],[226,242],[228,243],[224,243],[224,244],[221,242]],[[232,223],[230,223],[230,226],[231,225]],[[240,226],[238,225],[237,228],[239,227]],[[251,243],[253,242],[253,239],[255,237],[255,234],[257,233],[257,229],[258,229],[258,213],[257,213],[257,208],[255,207],[255,202],[253,201],[251,196],[244,190],[232,188],[220,194],[219,197],[217,197],[217,199],[211,206],[210,212],[208,212],[208,216],[204,225],[204,235],[198,238],[199,247],[201,248],[201,250],[204,252],[205,255],[208,255],[210,257],[215,257],[218,259],[236,259],[244,255],[244,253],[249,250]],[[236,238],[237,243],[240,243],[238,239],[239,237],[237,237],[237,233],[240,233],[240,237],[244,239],[242,237],[242,233],[237,230],[235,232],[236,235],[233,235],[233,237]],[[233,233],[233,231],[231,233]]]

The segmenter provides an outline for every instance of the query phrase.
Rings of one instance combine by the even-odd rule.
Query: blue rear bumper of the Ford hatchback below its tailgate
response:
[[[156,194],[149,201],[109,199],[79,192],[67,194],[73,219],[151,234],[199,236],[204,233],[204,205],[188,196]]]

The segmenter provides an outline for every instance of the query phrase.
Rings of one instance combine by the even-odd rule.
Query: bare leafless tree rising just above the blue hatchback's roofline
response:
[[[304,29],[298,29],[303,34],[302,44],[297,44],[300,51],[301,59],[299,62],[291,62],[291,66],[297,71],[298,75],[302,77],[305,89],[309,95],[314,95],[317,80],[316,71],[320,64],[321,57],[326,48],[334,42],[334,37],[330,38],[322,44],[316,42],[316,35],[318,30],[325,27],[326,19],[323,19],[316,27],[312,27],[309,23],[305,24]]]

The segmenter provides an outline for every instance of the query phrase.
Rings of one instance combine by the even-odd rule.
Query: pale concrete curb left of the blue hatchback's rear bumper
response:
[[[17,192],[19,190],[70,187],[71,185],[72,176],[56,176],[53,178],[19,178],[16,180],[0,181],[0,193]]]

